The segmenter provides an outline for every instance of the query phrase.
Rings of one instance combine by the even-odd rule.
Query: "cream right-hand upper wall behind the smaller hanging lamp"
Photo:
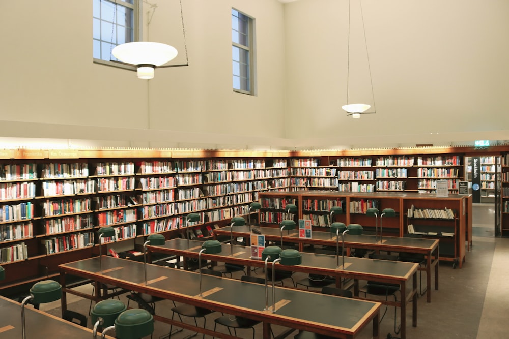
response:
[[[362,0],[377,113],[355,120],[341,109],[348,1],[285,6],[286,114],[294,117],[286,136],[299,146],[508,138],[509,2]],[[348,102],[373,105],[361,22],[352,0]]]

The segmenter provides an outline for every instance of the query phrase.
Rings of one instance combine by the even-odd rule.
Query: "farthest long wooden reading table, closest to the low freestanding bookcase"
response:
[[[214,236],[228,235],[230,236],[231,226],[221,227],[214,230]],[[281,239],[281,231],[279,228],[273,227],[254,227],[265,235],[265,240],[276,241],[279,243]],[[249,226],[236,226],[233,228],[234,237],[248,237]],[[341,235],[340,235],[341,246]],[[305,244],[315,244],[323,246],[335,246],[336,236],[329,232],[313,231],[311,238],[299,238],[298,230],[283,231],[283,241],[297,243],[299,251],[302,252]],[[374,235],[346,235],[345,247],[347,249],[369,249],[389,252],[410,252],[419,253],[426,256],[426,267],[419,267],[419,270],[426,271],[426,300],[431,302],[431,272],[435,268],[435,290],[438,290],[438,239],[422,239],[422,238],[404,238],[404,237],[387,237],[382,238],[382,242],[376,241]]]

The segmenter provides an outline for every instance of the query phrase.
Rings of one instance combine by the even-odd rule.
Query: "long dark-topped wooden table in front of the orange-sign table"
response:
[[[373,337],[379,338],[379,302],[277,288],[276,312],[273,313],[264,310],[265,286],[260,284],[202,275],[203,296],[200,297],[199,274],[195,272],[147,264],[148,282],[145,283],[143,263],[103,256],[102,267],[101,272],[98,257],[59,265],[63,286],[62,312],[67,307],[66,293],[92,298],[65,286],[66,274],[72,274],[93,280],[98,285],[112,284],[127,290],[262,321],[263,337],[266,339],[271,337],[271,324],[338,338],[354,338],[371,321]],[[269,300],[272,300],[271,292]],[[348,317],[338,317],[338,314],[348,314]],[[155,319],[219,338],[232,338],[227,334],[157,315]]]

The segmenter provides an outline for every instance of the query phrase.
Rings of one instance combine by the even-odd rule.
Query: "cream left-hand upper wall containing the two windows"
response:
[[[145,39],[175,45],[179,56],[172,63],[185,63],[179,1],[151,3],[157,8]],[[283,5],[182,3],[189,66],[156,69],[147,81],[93,63],[92,0],[3,1],[0,136],[72,139],[67,143],[74,145],[284,146]],[[144,6],[146,20],[151,14]],[[256,97],[232,90],[232,7],[256,19]]]

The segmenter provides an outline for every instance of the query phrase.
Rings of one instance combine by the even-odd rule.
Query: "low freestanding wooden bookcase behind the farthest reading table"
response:
[[[329,232],[331,222],[342,222],[346,225],[360,224],[363,233],[374,234],[377,221],[366,214],[367,208],[376,207],[380,213],[385,208],[392,208],[396,212],[395,217],[382,219],[384,236],[419,234],[424,238],[439,239],[440,260],[455,263],[465,260],[467,231],[471,234],[472,228],[471,195],[442,198],[419,193],[294,191],[286,194],[264,192],[260,196],[263,202],[260,210],[262,226],[278,227],[274,220],[266,220],[264,214],[276,210],[282,214],[282,205],[291,202],[298,208],[296,218],[312,220],[314,231]],[[343,214],[335,214],[334,220],[330,220],[332,206],[343,208]]]

